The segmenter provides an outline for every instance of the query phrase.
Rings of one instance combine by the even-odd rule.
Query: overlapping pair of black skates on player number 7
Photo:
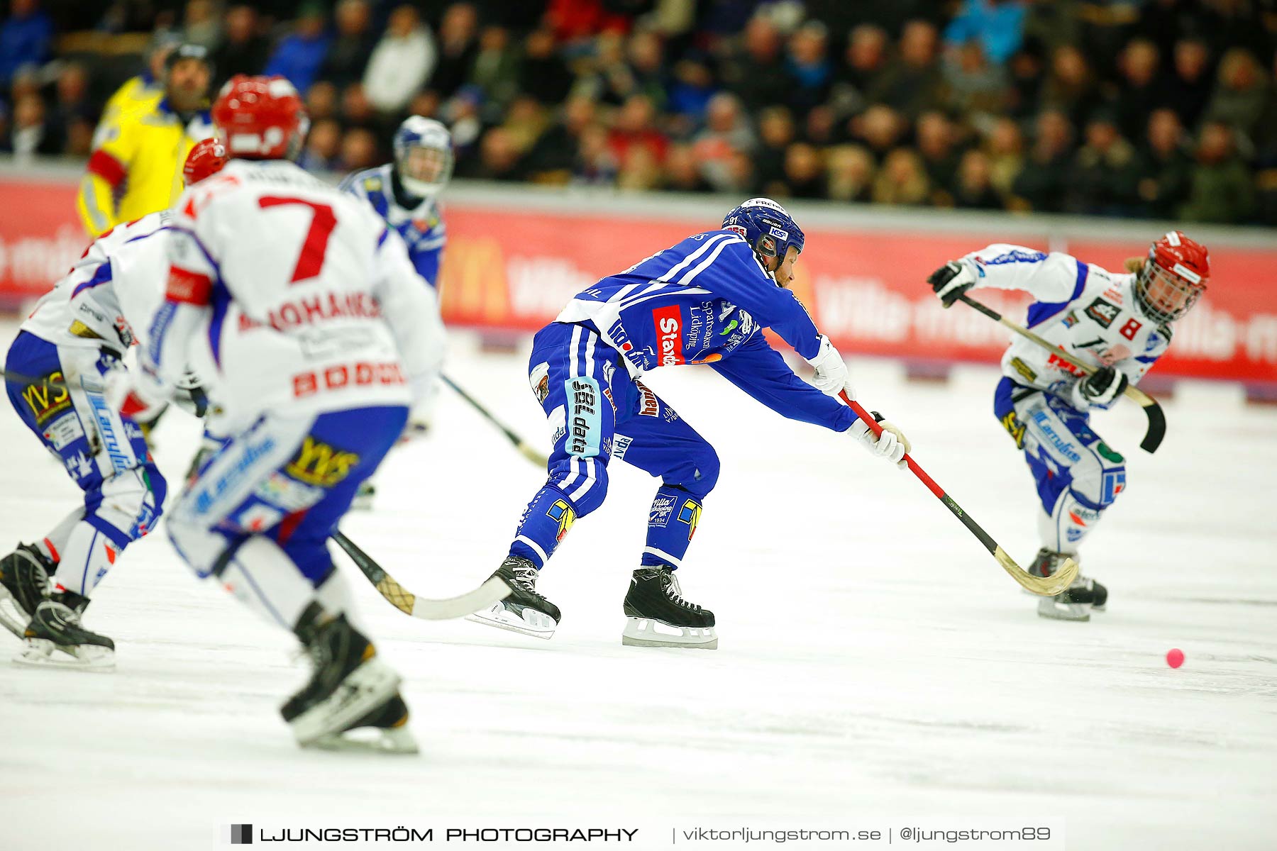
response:
[[[280,708],[303,748],[415,754],[400,676],[345,615],[312,603],[298,621],[314,672]]]

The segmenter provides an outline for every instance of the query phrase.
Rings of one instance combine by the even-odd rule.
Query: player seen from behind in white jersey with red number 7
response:
[[[281,708],[299,744],[356,746],[345,734],[364,727],[364,745],[415,751],[400,677],[352,623],[327,538],[435,380],[434,291],[368,204],[290,162],[308,121],[287,80],[236,75],[212,115],[230,159],[174,205],[167,299],[132,387],[155,403],[188,361],[207,376],[221,445],[169,535],[309,652],[314,675]]]

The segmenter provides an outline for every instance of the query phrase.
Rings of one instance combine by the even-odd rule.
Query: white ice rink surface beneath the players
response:
[[[462,346],[448,370],[544,434],[521,353]],[[991,415],[995,373],[918,384],[866,361],[852,374],[1027,563],[1034,495]],[[549,642],[406,618],[333,547],[406,677],[423,754],[299,751],[277,714],[304,679],[292,638],[152,535],[88,610],[116,640],[114,674],[0,665],[0,847],[223,847],[223,824],[301,818],[886,828],[911,815],[1062,818],[1077,848],[1277,847],[1277,411],[1183,388],[1157,455],[1137,449],[1134,406],[1097,417],[1129,453],[1130,486],[1084,550],[1110,611],[1070,624],[1039,619],[913,476],[849,438],[787,422],[709,370],[650,384],[723,461],[681,572],[688,598],[718,614],[720,649],[621,646],[655,485],[616,464],[608,503],[541,578],[563,610]],[[442,393],[435,431],[393,453],[375,512],[342,527],[427,596],[497,566],[544,477]],[[194,440],[180,416],[161,426],[171,482]],[[8,551],[79,496],[11,412],[0,441]],[[1179,670],[1163,660],[1172,647],[1188,657]]]

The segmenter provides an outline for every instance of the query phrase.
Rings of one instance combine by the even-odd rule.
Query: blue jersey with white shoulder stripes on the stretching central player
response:
[[[578,292],[558,322],[589,322],[631,376],[707,364],[778,413],[836,431],[849,408],[807,384],[767,344],[770,328],[803,357],[820,351],[807,310],[732,231],[707,231]]]

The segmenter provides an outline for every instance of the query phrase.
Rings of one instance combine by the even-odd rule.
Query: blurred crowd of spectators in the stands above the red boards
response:
[[[308,168],[1277,225],[1266,0],[0,0],[0,151],[84,158],[151,45],[282,74]],[[86,32],[89,31],[89,32]],[[128,40],[130,33],[147,33]],[[132,47],[132,52],[130,48]]]

